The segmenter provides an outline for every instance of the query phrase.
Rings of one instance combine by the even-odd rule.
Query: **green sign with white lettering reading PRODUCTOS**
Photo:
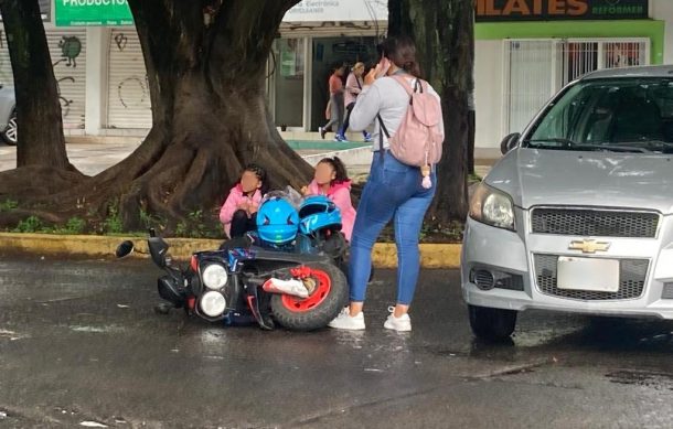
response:
[[[56,25],[133,25],[127,0],[55,0]]]

